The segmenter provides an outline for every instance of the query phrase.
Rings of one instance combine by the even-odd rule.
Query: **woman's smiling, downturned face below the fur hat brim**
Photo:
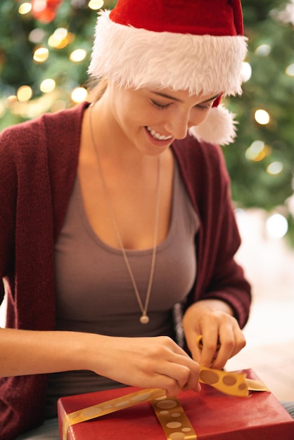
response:
[[[108,84],[108,103],[120,136],[147,155],[158,155],[174,139],[185,138],[190,127],[206,119],[217,96],[217,92],[189,96],[188,91]]]

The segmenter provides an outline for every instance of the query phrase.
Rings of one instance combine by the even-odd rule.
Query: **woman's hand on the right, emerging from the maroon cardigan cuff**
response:
[[[245,337],[230,306],[218,299],[192,304],[184,314],[183,329],[193,359],[206,367],[224,368],[226,361],[245,347]],[[197,344],[199,335],[203,335],[202,349]]]

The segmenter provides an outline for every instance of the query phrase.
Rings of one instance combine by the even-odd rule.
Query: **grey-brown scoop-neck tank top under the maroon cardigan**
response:
[[[198,216],[176,163],[170,228],[158,245],[148,306],[150,321],[142,325],[122,251],[107,245],[91,228],[77,178],[55,247],[56,329],[124,337],[174,337],[173,306],[186,298],[196,279],[198,228]],[[126,252],[144,304],[152,249]],[[56,416],[56,401],[60,396],[119,386],[89,371],[51,374],[46,417]]]

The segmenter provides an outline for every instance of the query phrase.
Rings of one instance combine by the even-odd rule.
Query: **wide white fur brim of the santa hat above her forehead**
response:
[[[159,87],[189,93],[241,94],[243,36],[153,32],[121,25],[101,11],[89,74],[126,87]]]

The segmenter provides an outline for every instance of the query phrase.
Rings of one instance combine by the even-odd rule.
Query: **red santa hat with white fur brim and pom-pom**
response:
[[[98,16],[89,73],[124,87],[241,94],[246,40],[240,0],[118,0]],[[225,145],[236,122],[219,101],[190,131]]]

